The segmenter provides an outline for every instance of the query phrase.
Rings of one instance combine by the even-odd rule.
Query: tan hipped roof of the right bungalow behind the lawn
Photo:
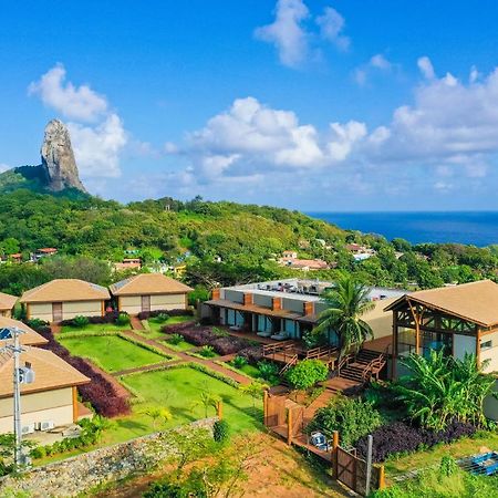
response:
[[[113,283],[110,289],[114,295],[180,294],[194,290],[163,273],[135,274]]]

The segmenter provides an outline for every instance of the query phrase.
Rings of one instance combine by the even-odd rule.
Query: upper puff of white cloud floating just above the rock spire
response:
[[[65,69],[58,64],[32,82],[28,92],[38,95],[49,107],[70,120],[93,122],[107,112],[107,101],[87,85],[74,86],[65,82]]]

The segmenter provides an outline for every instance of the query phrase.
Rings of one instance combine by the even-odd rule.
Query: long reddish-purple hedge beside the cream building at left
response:
[[[89,384],[77,387],[83,401],[90,402],[98,414],[106,417],[129,413],[127,400],[117,394],[114,385],[107,381],[106,377],[95,371],[94,367],[82,357],[71,356],[70,352],[55,341],[52,331],[49,328],[42,328],[38,331],[49,341],[49,343],[42,347],[52,351],[91,380]]]

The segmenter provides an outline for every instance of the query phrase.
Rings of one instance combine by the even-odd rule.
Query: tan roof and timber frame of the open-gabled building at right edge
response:
[[[484,280],[414,292],[397,299],[385,311],[393,312],[393,378],[397,373],[400,346],[421,354],[427,336],[438,338],[442,344],[450,344],[452,349],[446,350],[453,356],[455,334],[475,338],[473,352],[480,362],[481,338],[498,332],[498,286]],[[401,342],[403,335],[413,341]]]

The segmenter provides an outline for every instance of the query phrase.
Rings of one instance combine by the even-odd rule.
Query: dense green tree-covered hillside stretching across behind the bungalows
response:
[[[199,197],[185,203],[163,198],[122,205],[27,189],[2,193],[0,203],[1,256],[8,259],[21,252],[28,260],[39,248],[55,247],[66,257],[51,266],[2,264],[0,290],[13,293],[66,274],[108,283],[116,276],[108,266],[97,263],[120,261],[129,253],[152,269],[186,263],[186,280],[204,288],[302,274],[277,264],[284,250],[329,262],[333,269],[312,273],[322,279],[352,272],[365,283],[430,288],[497,278],[497,247],[411,246],[403,239],[387,241],[344,231],[298,211],[266,206],[210,203]],[[355,262],[346,250],[351,242],[370,247],[376,255]]]

